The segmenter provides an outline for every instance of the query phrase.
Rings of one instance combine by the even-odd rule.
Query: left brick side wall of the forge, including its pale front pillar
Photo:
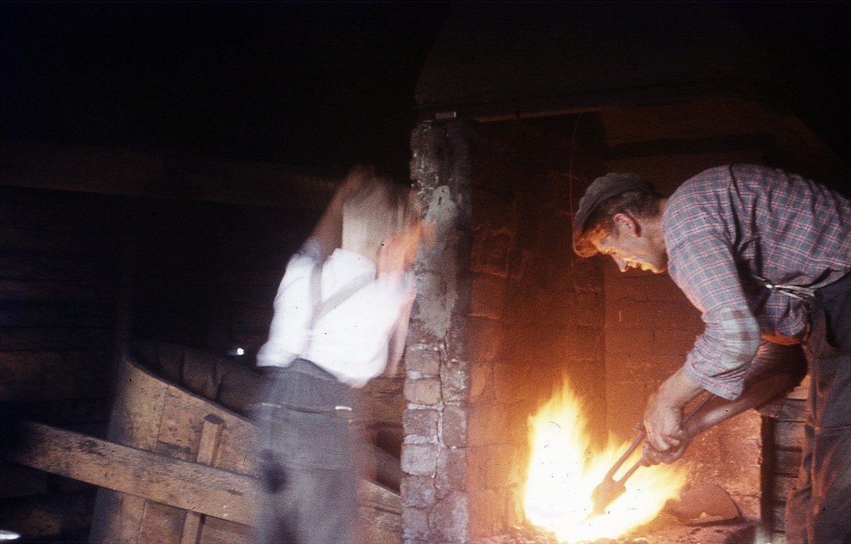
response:
[[[542,169],[544,144],[555,158]],[[437,236],[417,264],[406,355],[405,544],[523,522],[526,421],[563,376],[605,427],[603,272],[570,251],[568,147],[534,124],[414,130],[413,179]]]

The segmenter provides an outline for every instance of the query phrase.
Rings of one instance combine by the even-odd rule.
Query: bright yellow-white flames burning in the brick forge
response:
[[[526,518],[564,542],[625,535],[652,520],[686,482],[686,467],[642,467],[605,514],[585,520],[592,509],[591,492],[628,443],[592,451],[583,413],[580,399],[564,381],[561,391],[529,418],[532,451],[523,499]],[[640,455],[639,448],[625,467]]]

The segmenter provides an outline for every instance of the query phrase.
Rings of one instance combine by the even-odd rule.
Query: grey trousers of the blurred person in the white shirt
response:
[[[310,362],[266,369],[260,544],[350,544],[357,513],[351,388]]]

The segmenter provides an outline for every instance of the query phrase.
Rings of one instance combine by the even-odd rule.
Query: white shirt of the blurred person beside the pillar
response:
[[[311,334],[311,273],[317,259],[310,246],[309,241],[287,265],[275,296],[269,339],[257,353],[257,364],[288,366],[304,358],[351,387],[363,387],[386,368],[397,327],[408,326],[408,306],[416,295],[413,274],[375,278],[375,265],[367,257],[334,250],[322,268],[323,301],[350,282],[368,283],[317,319]]]

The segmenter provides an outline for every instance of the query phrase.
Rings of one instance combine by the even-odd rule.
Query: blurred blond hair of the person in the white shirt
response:
[[[343,248],[375,260],[381,243],[417,220],[409,187],[372,177],[343,202]]]

